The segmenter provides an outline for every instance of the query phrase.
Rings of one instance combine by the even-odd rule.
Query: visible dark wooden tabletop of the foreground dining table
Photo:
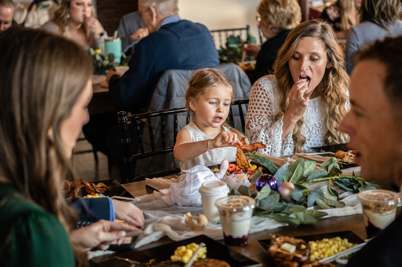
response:
[[[143,196],[144,194],[151,194],[153,191],[151,187],[146,186],[145,181],[123,184],[123,187],[133,196]],[[358,237],[360,237],[361,239],[365,239],[367,236],[365,232],[365,225],[362,220],[362,214],[354,214],[346,217],[331,217],[328,219],[319,219],[317,223],[315,223],[315,225],[299,225],[299,227],[297,228],[292,226],[285,226],[274,230],[264,230],[262,232],[256,232],[249,235],[247,245],[241,247],[232,246],[231,248],[240,252],[246,257],[253,259],[254,261],[260,262],[261,264],[263,264],[263,266],[272,266],[272,260],[258,242],[258,240],[261,239],[268,239],[268,235],[270,233],[301,236],[307,234],[322,234],[325,232],[341,231],[353,231],[355,234],[358,235]],[[165,236],[158,241],[149,243],[146,246],[142,246],[141,248],[139,248],[139,250],[145,250],[147,248],[152,248],[171,242],[173,241]],[[219,240],[219,242],[224,243],[223,240]],[[107,258],[107,256],[99,257],[98,260],[105,258]]]

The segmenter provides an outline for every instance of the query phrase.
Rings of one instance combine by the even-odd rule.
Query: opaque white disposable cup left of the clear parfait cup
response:
[[[219,221],[219,212],[215,201],[227,196],[227,193],[229,193],[229,187],[225,182],[207,181],[202,183],[200,188],[202,212],[211,223]]]

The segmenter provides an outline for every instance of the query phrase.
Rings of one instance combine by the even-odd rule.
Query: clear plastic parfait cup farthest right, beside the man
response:
[[[387,190],[366,190],[358,193],[362,203],[367,239],[386,228],[395,219],[399,194]]]

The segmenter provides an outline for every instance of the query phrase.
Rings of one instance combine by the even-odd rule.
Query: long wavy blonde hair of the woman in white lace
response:
[[[288,61],[292,57],[299,40],[304,37],[319,39],[322,42],[322,46],[324,46],[328,62],[331,64],[330,68],[326,68],[324,77],[315,91],[322,98],[326,110],[324,118],[322,118],[322,122],[328,129],[324,136],[324,142],[326,145],[340,143],[343,140],[347,140],[346,134],[340,133],[337,128],[347,113],[349,75],[344,70],[344,54],[336,41],[333,28],[322,19],[312,19],[299,24],[289,33],[285,44],[279,50],[277,60],[273,66],[274,75],[277,77],[279,94],[281,95],[280,111],[275,118],[279,120],[288,111],[288,94],[294,84]],[[302,134],[303,124],[304,118],[302,117],[296,122],[293,129],[292,138],[295,152],[302,151],[302,147],[306,142],[306,136]]]

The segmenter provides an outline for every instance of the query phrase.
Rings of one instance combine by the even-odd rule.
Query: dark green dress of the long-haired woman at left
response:
[[[62,223],[0,183],[0,266],[75,266]]]

